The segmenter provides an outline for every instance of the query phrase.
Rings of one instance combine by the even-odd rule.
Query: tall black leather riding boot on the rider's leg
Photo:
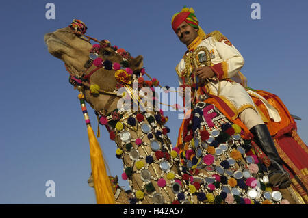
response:
[[[286,188],[290,186],[290,174],[283,169],[283,161],[281,160],[277,149],[272,141],[272,136],[268,131],[266,124],[253,126],[249,131],[255,136],[255,142],[260,146],[261,150],[270,159],[269,180],[274,187]]]

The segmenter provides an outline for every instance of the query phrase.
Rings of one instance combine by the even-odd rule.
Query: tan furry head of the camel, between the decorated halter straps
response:
[[[70,27],[57,29],[53,33],[46,33],[44,35],[44,42],[47,44],[49,53],[61,59],[65,63],[66,69],[75,76],[80,77],[84,72],[88,74],[97,68],[92,64],[87,70],[85,64],[90,61],[89,55],[93,45],[83,34],[76,33]],[[129,53],[125,52],[126,56],[123,56],[124,49],[117,49],[116,46],[111,46],[107,40],[99,41],[99,44],[101,44],[101,47],[97,49],[96,53],[99,55],[98,57],[103,59],[103,62],[107,60],[112,63],[120,63],[125,57],[129,68],[133,72],[138,72],[142,69],[142,55],[133,58],[130,55],[127,56]],[[88,78],[88,82],[89,84],[98,85],[101,90],[112,92],[117,84],[114,74],[115,70],[113,69],[99,68]],[[107,104],[107,99],[110,97],[105,94],[91,94],[90,90],[86,87],[84,94],[86,101],[96,111],[103,109],[105,104]]]

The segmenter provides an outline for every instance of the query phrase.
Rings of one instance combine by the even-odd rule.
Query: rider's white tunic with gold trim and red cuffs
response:
[[[253,100],[246,92],[246,78],[240,73],[240,69],[244,65],[244,58],[235,48],[235,46],[233,46],[229,42],[229,40],[227,40],[227,38],[224,38],[224,40],[218,42],[213,36],[205,38],[200,42],[200,44],[198,44],[198,46],[205,46],[211,52],[212,70],[214,70],[213,66],[215,66],[215,64],[218,64],[217,66],[220,66],[219,63],[224,62],[224,69],[220,71],[220,76],[222,76],[220,78],[220,81],[218,82],[211,80],[211,82],[208,84],[209,94],[214,94],[224,99],[227,105],[229,105],[229,107],[231,107],[231,109],[233,109],[236,114],[233,118],[238,117],[239,113],[249,107],[255,109],[255,111],[259,113],[255,107],[255,103],[253,103]],[[203,51],[201,51],[200,53],[203,53]],[[186,53],[185,55],[188,55],[188,53]],[[181,75],[183,74],[184,70],[185,60],[184,58],[182,58],[176,67],[180,85],[183,84]],[[270,109],[273,109],[274,112],[277,112],[274,107]]]

